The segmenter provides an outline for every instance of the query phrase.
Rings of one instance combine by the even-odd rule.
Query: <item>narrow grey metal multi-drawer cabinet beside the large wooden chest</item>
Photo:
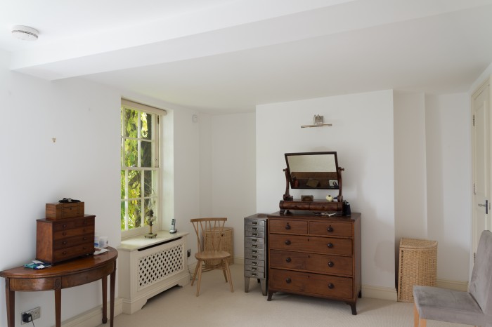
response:
[[[257,279],[261,293],[266,295],[267,258],[266,258],[266,223],[263,213],[245,218],[245,292],[250,291],[250,278]]]

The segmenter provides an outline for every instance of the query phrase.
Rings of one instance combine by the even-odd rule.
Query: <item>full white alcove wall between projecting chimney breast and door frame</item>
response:
[[[465,93],[395,93],[395,248],[438,241],[439,281],[468,281],[471,233],[470,100]]]

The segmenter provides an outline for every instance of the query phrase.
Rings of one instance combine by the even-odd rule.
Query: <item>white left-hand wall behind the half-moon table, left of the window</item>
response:
[[[36,220],[45,217],[45,203],[63,197],[84,201],[86,213],[96,215],[96,232],[118,245],[119,138],[111,135],[119,135],[119,93],[82,79],[43,81],[7,66],[0,51],[0,270],[34,259]],[[101,282],[62,293],[62,320],[102,303]],[[54,325],[53,292],[18,292],[16,326],[20,312],[38,306],[44,314],[36,326]],[[4,296],[0,326],[6,326]]]

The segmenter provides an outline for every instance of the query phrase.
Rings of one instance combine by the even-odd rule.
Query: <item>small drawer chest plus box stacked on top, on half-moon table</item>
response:
[[[95,218],[84,215],[84,202],[46,203],[46,219],[37,220],[36,259],[53,264],[94,253]]]

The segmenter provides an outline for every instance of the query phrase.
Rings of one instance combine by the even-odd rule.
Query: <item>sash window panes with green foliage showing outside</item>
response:
[[[121,229],[145,225],[150,210],[157,213],[155,114],[122,106]]]

